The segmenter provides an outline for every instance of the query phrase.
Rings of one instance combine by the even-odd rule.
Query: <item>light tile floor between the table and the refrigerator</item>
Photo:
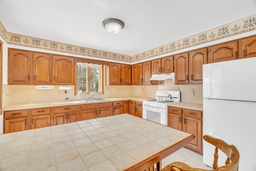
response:
[[[202,168],[207,170],[212,170],[211,167],[203,163],[203,156],[191,151],[190,149],[182,148],[176,151],[175,153],[169,155],[162,160],[162,167],[174,162],[180,161],[186,163],[190,167]]]

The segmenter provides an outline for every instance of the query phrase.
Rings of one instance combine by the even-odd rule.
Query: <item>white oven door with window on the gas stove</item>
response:
[[[167,126],[167,109],[143,105],[142,118]]]

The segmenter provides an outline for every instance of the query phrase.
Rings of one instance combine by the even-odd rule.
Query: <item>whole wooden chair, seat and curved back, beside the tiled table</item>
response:
[[[234,145],[229,145],[221,139],[204,135],[204,140],[215,146],[214,162],[212,168],[214,171],[238,171],[239,165],[239,152]],[[225,161],[225,165],[218,167],[218,149],[223,151],[228,158]],[[231,161],[231,163],[230,163]],[[161,171],[209,171],[206,169],[192,168],[182,162],[173,162],[167,165]]]

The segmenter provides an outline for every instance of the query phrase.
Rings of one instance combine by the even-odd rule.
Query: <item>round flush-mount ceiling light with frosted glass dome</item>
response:
[[[116,34],[124,28],[124,22],[116,18],[107,18],[103,20],[102,26],[108,30],[108,32]]]

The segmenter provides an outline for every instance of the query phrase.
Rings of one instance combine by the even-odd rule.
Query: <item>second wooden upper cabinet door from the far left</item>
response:
[[[33,84],[51,84],[50,54],[33,53]]]

